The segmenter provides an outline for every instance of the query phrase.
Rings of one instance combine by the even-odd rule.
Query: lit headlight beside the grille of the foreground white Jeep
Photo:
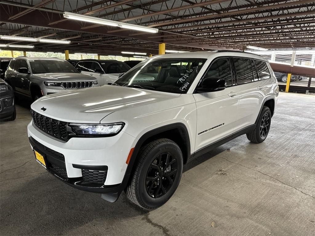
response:
[[[70,123],[72,132],[78,135],[92,135],[92,136],[112,136],[119,133],[125,123],[112,123],[112,124],[74,124]]]

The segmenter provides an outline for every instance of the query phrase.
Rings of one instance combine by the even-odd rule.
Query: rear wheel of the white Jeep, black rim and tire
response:
[[[246,134],[248,140],[252,143],[262,143],[270,130],[271,111],[269,107],[264,106],[255,126],[255,129]]]

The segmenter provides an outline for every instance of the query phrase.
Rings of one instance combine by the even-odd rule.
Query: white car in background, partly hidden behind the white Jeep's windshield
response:
[[[82,74],[94,76],[99,85],[114,83],[119,75],[130,70],[129,65],[117,60],[84,59],[75,66]]]

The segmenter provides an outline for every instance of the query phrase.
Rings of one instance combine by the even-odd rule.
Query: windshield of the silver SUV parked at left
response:
[[[30,60],[33,74],[79,73],[69,62],[59,60]]]

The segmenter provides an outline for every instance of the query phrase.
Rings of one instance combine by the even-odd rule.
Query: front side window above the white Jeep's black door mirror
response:
[[[226,86],[232,86],[235,82],[232,81],[231,65],[229,58],[220,58],[215,60],[209,67],[204,78],[217,77],[226,80]]]

